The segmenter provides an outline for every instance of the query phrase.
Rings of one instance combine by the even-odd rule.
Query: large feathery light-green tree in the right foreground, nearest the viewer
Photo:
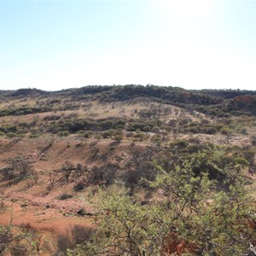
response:
[[[219,189],[207,172],[195,175],[195,163],[195,159],[184,160],[171,170],[157,166],[155,180],[148,183],[158,200],[146,206],[118,186],[102,190],[96,236],[70,255],[229,256],[253,252],[255,230],[247,224],[255,221],[253,201],[246,177],[238,172],[241,169],[224,166],[225,186]]]

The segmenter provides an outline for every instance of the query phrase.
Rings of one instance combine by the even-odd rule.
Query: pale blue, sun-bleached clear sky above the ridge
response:
[[[256,90],[256,0],[0,0],[0,90]]]

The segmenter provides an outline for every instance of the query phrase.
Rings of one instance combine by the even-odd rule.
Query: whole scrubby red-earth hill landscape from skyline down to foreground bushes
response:
[[[246,224],[255,221],[255,97],[132,84],[0,91],[0,254],[96,255],[90,241],[93,250],[106,247],[102,255],[149,242],[152,255],[196,255],[225,239],[225,253],[246,253],[255,246]],[[253,200],[239,190],[246,188]],[[107,236],[105,224],[120,235]],[[190,232],[196,226],[201,236]],[[212,240],[203,241],[209,229]],[[246,238],[236,243],[230,234]]]

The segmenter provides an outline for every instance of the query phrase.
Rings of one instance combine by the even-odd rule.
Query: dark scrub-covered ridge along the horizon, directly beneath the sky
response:
[[[60,91],[44,91],[38,89],[0,90],[0,99],[23,97],[52,98],[63,96],[72,101],[98,100],[100,102],[124,102],[140,98],[155,102],[171,104],[180,108],[188,108],[213,116],[225,117],[233,115],[256,115],[255,90],[184,90],[179,87],[157,85],[88,85]],[[32,109],[32,113],[49,111]],[[4,110],[5,112],[7,110]],[[3,112],[1,110],[1,112]],[[15,114],[9,113],[9,114]],[[0,115],[4,115],[0,113]]]

